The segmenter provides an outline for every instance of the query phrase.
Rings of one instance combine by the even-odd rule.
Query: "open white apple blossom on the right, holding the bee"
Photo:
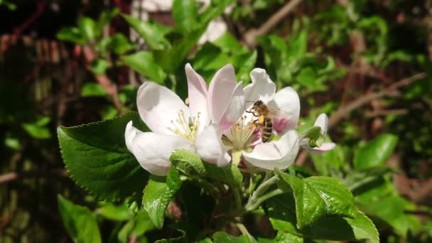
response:
[[[252,83],[244,87],[245,111],[239,121],[225,131],[223,139],[231,150],[233,163],[244,158],[245,166],[257,169],[285,169],[296,159],[299,141],[296,128],[300,114],[297,92],[285,87],[276,92],[276,85],[266,71],[255,68],[251,72]],[[262,143],[257,133],[254,117],[248,113],[252,104],[261,100],[270,109],[283,112],[283,117],[273,119],[273,130],[279,139]],[[249,105],[246,105],[250,103]]]

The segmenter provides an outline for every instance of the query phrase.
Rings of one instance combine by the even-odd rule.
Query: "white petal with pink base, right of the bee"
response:
[[[269,102],[269,107],[281,111],[281,116],[274,119],[278,134],[296,129],[298,117],[300,116],[300,99],[297,92],[291,87],[279,90]]]

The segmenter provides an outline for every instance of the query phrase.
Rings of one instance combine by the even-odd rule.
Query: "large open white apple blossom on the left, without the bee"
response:
[[[139,131],[132,121],[126,126],[127,148],[146,171],[155,175],[168,173],[169,157],[175,149],[198,153],[204,161],[217,166],[231,160],[221,144],[220,133],[244,111],[242,85],[235,80],[234,68],[226,65],[217,71],[209,90],[189,64],[185,72],[189,106],[168,88],[144,82],[136,102],[141,119],[151,131]]]

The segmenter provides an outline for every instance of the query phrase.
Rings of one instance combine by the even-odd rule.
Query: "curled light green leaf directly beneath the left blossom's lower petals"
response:
[[[202,161],[197,154],[185,150],[174,151],[170,160],[178,171],[186,175],[221,180],[236,188],[242,185],[243,175],[239,168],[232,166],[231,163],[225,167],[217,167],[215,164]]]

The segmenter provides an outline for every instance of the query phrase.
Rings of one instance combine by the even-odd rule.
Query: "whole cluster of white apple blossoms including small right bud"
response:
[[[299,136],[296,129],[300,114],[297,92],[276,85],[260,68],[252,70],[252,83],[237,82],[232,65],[218,70],[207,83],[188,64],[188,105],[175,92],[154,82],[144,82],[137,95],[139,115],[151,132],[126,126],[126,146],[146,171],[166,175],[169,157],[175,149],[198,153],[203,161],[226,166],[234,163],[247,171],[281,170],[296,159],[300,147],[312,152],[332,149],[323,143],[328,118],[320,114],[314,126],[320,127],[320,141]],[[250,111],[261,100],[283,116],[274,117],[273,138],[263,142],[257,116]]]

